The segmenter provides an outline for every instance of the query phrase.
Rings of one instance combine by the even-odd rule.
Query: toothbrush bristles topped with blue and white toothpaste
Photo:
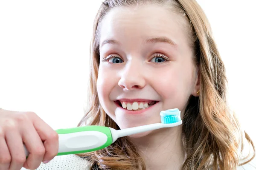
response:
[[[180,119],[180,111],[177,108],[161,111],[160,116],[163,124],[182,122]]]

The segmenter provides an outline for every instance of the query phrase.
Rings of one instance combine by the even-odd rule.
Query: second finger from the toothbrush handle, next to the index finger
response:
[[[44,158],[45,148],[40,136],[32,124],[28,124],[23,128],[22,139],[29,151],[29,156],[24,162],[23,167],[26,169],[38,168]]]

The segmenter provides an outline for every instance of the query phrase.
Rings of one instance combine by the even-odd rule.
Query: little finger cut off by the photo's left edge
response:
[[[0,129],[0,170],[9,170],[11,155],[4,137],[3,130]]]

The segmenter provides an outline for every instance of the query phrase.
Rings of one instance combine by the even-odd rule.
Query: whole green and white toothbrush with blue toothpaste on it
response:
[[[161,123],[131,127],[122,130],[115,130],[111,127],[96,125],[58,129],[56,130],[59,136],[57,156],[100,150],[108,147],[115,142],[116,139],[123,136],[156,130],[163,127],[175,127],[182,124],[180,111],[177,108],[161,111],[160,116]],[[26,146],[23,146],[26,156],[28,156],[29,152],[26,149]]]

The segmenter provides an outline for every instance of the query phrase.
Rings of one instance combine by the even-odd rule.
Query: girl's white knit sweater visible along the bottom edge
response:
[[[255,159],[254,159],[255,160]],[[89,170],[88,161],[76,155],[55,156],[49,163],[41,163],[37,170]],[[21,170],[26,170],[21,168]],[[237,168],[237,170],[256,170],[255,162],[249,162]]]

